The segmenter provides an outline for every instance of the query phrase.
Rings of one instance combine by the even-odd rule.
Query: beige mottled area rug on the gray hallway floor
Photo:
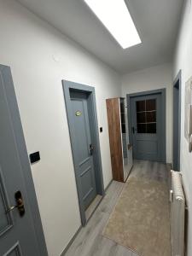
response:
[[[166,183],[131,177],[103,236],[142,256],[171,256]]]

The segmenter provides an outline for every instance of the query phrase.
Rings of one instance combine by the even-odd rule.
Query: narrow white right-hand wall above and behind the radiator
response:
[[[189,0],[185,1],[183,19],[177,38],[177,49],[173,67],[173,78],[182,70],[182,114],[181,114],[181,172],[183,173],[184,189],[189,206],[189,229],[187,256],[192,255],[192,154],[184,137],[184,93],[185,82],[192,76],[192,8]]]

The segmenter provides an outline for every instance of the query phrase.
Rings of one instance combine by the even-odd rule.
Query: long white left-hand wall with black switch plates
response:
[[[104,186],[112,179],[105,99],[120,96],[109,67],[14,0],[0,0],[0,62],[11,67],[49,256],[79,229],[79,203],[61,79],[96,88]],[[59,207],[55,211],[54,204]]]

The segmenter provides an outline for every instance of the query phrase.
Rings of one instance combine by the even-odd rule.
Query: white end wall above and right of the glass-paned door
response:
[[[172,163],[172,65],[150,67],[122,78],[122,96],[161,88],[166,88],[166,161]]]

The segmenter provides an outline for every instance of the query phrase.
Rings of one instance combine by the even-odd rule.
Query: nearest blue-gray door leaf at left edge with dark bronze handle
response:
[[[9,67],[0,65],[0,255],[41,256],[5,92],[9,84]],[[19,208],[7,212],[15,205]]]

